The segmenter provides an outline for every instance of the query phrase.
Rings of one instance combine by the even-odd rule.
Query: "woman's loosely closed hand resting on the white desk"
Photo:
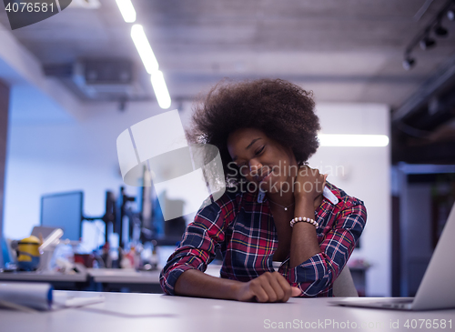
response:
[[[291,287],[278,272],[266,272],[237,289],[238,301],[287,302],[289,297],[298,297],[302,292]]]

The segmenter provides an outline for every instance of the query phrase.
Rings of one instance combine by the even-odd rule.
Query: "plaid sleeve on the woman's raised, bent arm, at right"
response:
[[[367,210],[357,200],[339,212],[332,229],[319,243],[321,252],[297,267],[290,268],[291,286],[302,291],[301,297],[318,297],[327,291],[345,267],[367,221]]]

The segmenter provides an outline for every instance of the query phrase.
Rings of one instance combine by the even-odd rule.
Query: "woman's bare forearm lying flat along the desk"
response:
[[[187,270],[177,279],[176,294],[188,297],[238,299],[238,288],[243,283],[236,280],[209,276],[197,269]]]

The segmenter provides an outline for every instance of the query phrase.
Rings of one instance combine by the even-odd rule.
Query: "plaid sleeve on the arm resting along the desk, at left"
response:
[[[235,211],[235,200],[225,194],[197,212],[159,276],[166,294],[175,295],[177,278],[188,269],[206,270],[215,257],[217,244],[225,239],[226,227],[235,217]]]

